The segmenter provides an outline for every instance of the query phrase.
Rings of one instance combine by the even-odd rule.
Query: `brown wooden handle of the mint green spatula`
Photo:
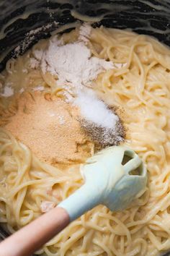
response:
[[[1,256],[30,256],[70,222],[66,210],[56,207],[0,243]]]

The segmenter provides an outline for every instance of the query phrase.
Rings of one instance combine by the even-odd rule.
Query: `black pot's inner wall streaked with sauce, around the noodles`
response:
[[[0,72],[56,28],[88,17],[94,27],[129,28],[170,46],[170,0],[0,0],[0,13]],[[0,227],[0,238],[6,236]]]

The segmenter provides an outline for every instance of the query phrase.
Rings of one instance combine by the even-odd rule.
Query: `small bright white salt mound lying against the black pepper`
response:
[[[99,100],[93,91],[86,90],[79,93],[74,101],[81,109],[81,115],[87,121],[106,129],[115,129],[118,117],[107,108],[103,101]]]

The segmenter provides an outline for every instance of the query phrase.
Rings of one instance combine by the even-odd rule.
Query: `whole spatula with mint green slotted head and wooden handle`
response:
[[[0,244],[1,256],[28,256],[96,205],[123,210],[146,189],[146,168],[130,148],[114,146],[81,166],[84,185],[57,207],[24,226]]]

